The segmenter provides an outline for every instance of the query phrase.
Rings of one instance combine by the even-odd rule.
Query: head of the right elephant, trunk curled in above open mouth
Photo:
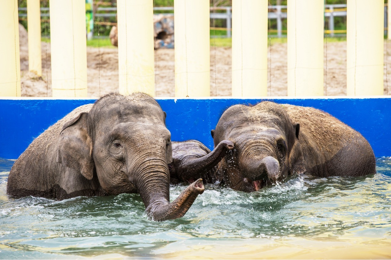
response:
[[[280,104],[228,108],[211,132],[215,145],[221,140],[235,145],[221,161],[225,183],[252,192],[294,171],[304,172],[299,132],[300,125],[291,122]]]

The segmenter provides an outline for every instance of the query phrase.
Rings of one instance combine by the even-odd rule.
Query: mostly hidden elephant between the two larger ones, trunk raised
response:
[[[222,140],[212,152],[197,140],[172,142],[171,183],[192,183],[196,179],[203,179],[204,183],[220,183],[217,165],[231,149],[233,143],[229,140]]]

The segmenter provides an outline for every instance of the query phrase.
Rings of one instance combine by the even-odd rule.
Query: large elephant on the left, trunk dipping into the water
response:
[[[170,203],[172,142],[165,118],[156,100],[144,93],[111,93],[80,106],[20,155],[7,193],[58,200],[139,193],[152,220],[182,217],[204,186],[197,179]]]

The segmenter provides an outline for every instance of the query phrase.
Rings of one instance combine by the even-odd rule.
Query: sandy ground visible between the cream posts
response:
[[[27,34],[27,33],[26,33]],[[28,72],[27,36],[20,37],[20,63],[23,97],[50,97],[50,43],[42,43],[42,78]],[[325,44],[325,95],[346,95],[346,41]],[[391,64],[391,45],[385,61]],[[156,55],[156,96],[174,97],[174,49],[159,49]],[[327,59],[326,59],[327,56]],[[216,61],[216,64],[215,64]],[[268,95],[287,95],[287,44],[276,43],[268,49]],[[210,48],[210,95],[231,96],[231,48]],[[391,72],[388,81],[391,85]],[[88,97],[118,92],[118,49],[87,47]],[[384,94],[386,90],[386,62],[384,65]],[[391,94],[391,86],[388,86]]]

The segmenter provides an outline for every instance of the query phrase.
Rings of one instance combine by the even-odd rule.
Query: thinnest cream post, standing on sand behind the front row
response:
[[[41,10],[39,0],[27,1],[27,27],[29,28],[29,70],[42,76]]]

